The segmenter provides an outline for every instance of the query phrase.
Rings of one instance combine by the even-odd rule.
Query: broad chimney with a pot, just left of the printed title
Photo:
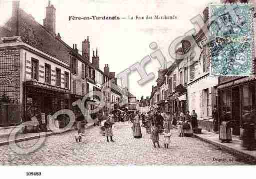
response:
[[[51,1],[48,1],[48,6],[46,7],[45,18],[43,19],[44,28],[50,32],[52,35],[55,35],[55,25],[56,25],[56,9],[51,4]]]

